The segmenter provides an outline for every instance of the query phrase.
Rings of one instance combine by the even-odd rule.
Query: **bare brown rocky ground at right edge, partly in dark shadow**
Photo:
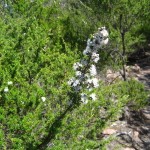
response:
[[[150,51],[139,51],[129,57],[132,75],[150,91]],[[150,93],[150,92],[149,92]],[[141,110],[125,108],[125,117],[105,129],[104,137],[114,135],[107,150],[150,150],[150,96]]]

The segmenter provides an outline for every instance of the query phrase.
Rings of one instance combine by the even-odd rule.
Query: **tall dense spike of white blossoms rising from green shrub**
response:
[[[101,27],[98,29],[98,32],[93,35],[93,38],[87,41],[86,49],[83,51],[83,55],[87,57],[73,65],[75,77],[71,78],[68,84],[75,92],[81,93],[81,102],[84,104],[88,103],[88,99],[97,99],[96,94],[91,94],[91,92],[94,88],[99,87],[96,70],[96,63],[98,63],[100,59],[98,50],[106,44],[108,44],[108,31],[105,27]],[[90,92],[90,94],[88,94],[88,92]]]

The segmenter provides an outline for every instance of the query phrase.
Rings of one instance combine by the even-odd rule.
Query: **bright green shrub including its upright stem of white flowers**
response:
[[[0,149],[103,149],[104,127],[129,100],[140,106],[145,100],[140,84],[99,81],[99,49],[108,43],[107,30],[99,29],[81,54],[79,41],[94,29],[90,20],[83,26],[77,12],[75,20],[45,0],[1,5]]]

